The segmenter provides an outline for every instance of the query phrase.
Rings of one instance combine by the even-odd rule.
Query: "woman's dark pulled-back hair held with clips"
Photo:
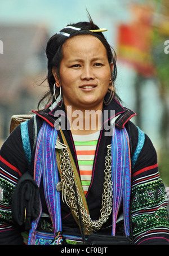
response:
[[[63,28],[60,32],[65,32],[70,34],[69,37],[64,36],[63,34],[54,34],[54,36],[52,36],[50,38],[50,40],[48,40],[47,42],[47,46],[46,46],[46,55],[47,55],[47,59],[48,59],[48,64],[47,64],[47,68],[48,68],[48,74],[47,74],[47,81],[48,81],[48,85],[50,87],[50,91],[47,92],[45,94],[45,96],[42,97],[42,99],[39,101],[38,103],[38,107],[41,104],[41,102],[46,99],[47,97],[49,97],[48,99],[48,103],[51,101],[52,99],[52,95],[54,93],[54,84],[55,84],[55,78],[54,75],[52,73],[52,68],[56,67],[57,70],[57,76],[59,77],[59,70],[60,70],[60,63],[61,60],[63,59],[63,45],[65,43],[65,41],[69,40],[69,38],[75,37],[75,36],[79,36],[79,35],[87,35],[87,34],[91,34],[92,36],[97,37],[105,46],[106,48],[106,52],[108,55],[108,61],[109,63],[113,63],[113,71],[112,71],[112,83],[114,86],[114,81],[117,77],[117,66],[116,66],[116,54],[115,51],[113,49],[113,47],[111,47],[108,44],[108,41],[106,40],[106,38],[104,37],[104,34],[102,32],[91,32],[91,30],[93,29],[99,29],[99,27],[97,27],[97,25],[94,24],[94,22],[91,19],[91,16],[89,15],[89,22],[78,22],[75,24],[68,24],[66,27],[68,26],[72,26],[75,28],[81,28],[81,30],[77,31],[74,30],[72,28]],[[115,90],[115,89],[114,89]],[[58,93],[56,92],[56,95]],[[119,101],[119,97],[117,96],[117,94],[114,92],[114,97],[117,98]]]

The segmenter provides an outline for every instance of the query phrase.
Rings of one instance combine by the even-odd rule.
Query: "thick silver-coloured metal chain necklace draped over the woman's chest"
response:
[[[105,157],[105,181],[102,195],[102,203],[100,210],[100,217],[98,220],[91,220],[90,215],[84,208],[81,194],[77,189],[78,203],[82,215],[82,222],[84,228],[88,231],[97,231],[108,220],[109,215],[112,212],[112,157],[111,157],[111,145],[108,145],[108,153]],[[79,219],[77,199],[74,192],[74,175],[72,170],[72,164],[70,163],[69,151],[64,148],[60,150],[60,169],[61,169],[61,183],[56,185],[57,190],[62,190],[62,199],[69,207],[72,208],[74,215]]]

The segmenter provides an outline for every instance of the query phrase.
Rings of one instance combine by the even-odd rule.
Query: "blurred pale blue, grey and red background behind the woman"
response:
[[[46,42],[87,12],[117,53],[116,88],[133,119],[153,141],[169,186],[169,1],[1,0],[0,145],[11,116],[37,109],[46,92]]]

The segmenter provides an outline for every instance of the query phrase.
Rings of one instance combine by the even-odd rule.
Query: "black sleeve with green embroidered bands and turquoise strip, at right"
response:
[[[150,138],[141,131],[142,144],[138,144],[139,129],[132,123],[132,155],[140,150],[132,167],[131,218],[135,244],[168,244],[169,218],[166,190],[159,176],[157,153]]]

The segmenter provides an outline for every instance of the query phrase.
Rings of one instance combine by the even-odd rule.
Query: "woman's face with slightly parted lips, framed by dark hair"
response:
[[[82,35],[67,40],[63,45],[59,78],[53,70],[56,83],[62,89],[65,107],[102,109],[112,68],[104,45],[95,36]]]

